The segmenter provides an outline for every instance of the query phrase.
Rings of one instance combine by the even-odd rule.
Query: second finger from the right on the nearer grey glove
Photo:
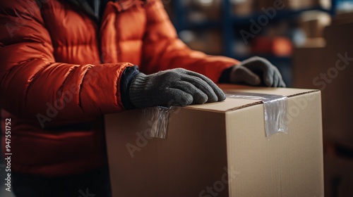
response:
[[[203,93],[208,96],[208,101],[207,101],[208,103],[213,103],[218,101],[218,96],[215,94],[215,91],[213,91],[213,88],[210,87],[210,85],[207,82],[203,81],[201,78],[186,75],[184,77],[181,77],[181,80],[185,82],[189,82],[193,84],[196,88],[203,91]]]

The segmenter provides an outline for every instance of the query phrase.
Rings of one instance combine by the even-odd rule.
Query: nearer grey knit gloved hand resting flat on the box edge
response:
[[[129,96],[136,108],[186,106],[225,100],[225,94],[208,77],[182,68],[133,78]]]

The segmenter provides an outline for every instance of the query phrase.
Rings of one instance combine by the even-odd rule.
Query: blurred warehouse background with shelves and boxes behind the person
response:
[[[353,196],[353,0],[163,0],[191,49],[262,56],[288,87],[321,89],[325,196]]]

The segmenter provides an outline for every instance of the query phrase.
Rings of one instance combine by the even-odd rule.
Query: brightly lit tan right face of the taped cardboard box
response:
[[[298,111],[298,98],[306,95],[289,98],[296,117],[288,133],[268,139],[263,105],[227,113],[228,165],[238,172],[231,196],[323,196],[321,102],[319,92],[311,94],[313,101]]]

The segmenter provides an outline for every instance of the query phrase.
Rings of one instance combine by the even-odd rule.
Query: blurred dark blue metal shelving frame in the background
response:
[[[236,29],[237,27],[241,27],[241,25],[250,25],[251,19],[256,20],[259,16],[263,15],[263,12],[258,11],[248,16],[237,16],[232,13],[232,4],[231,0],[222,0],[222,15],[220,20],[205,20],[202,22],[189,22],[186,20],[186,13],[189,11],[189,8],[185,8],[183,5],[183,0],[174,0],[174,18],[172,18],[177,31],[181,30],[207,30],[207,29],[220,29],[222,30],[222,55],[228,56],[231,58],[236,58],[240,61],[245,58],[249,58],[249,56],[237,56],[233,52],[234,44],[236,42]],[[335,9],[337,6],[337,1],[340,0],[331,0],[331,8],[325,9],[320,6],[312,7],[312,8],[304,8],[299,10],[281,10],[277,11],[274,18],[270,20],[270,23],[274,23],[275,21],[282,19],[293,18],[296,15],[304,12],[304,11],[325,11],[330,13],[331,15],[335,15]],[[277,57],[277,56],[265,56],[271,63],[277,65],[277,67],[282,72],[283,78],[286,83],[289,84],[291,82],[291,57]]]

